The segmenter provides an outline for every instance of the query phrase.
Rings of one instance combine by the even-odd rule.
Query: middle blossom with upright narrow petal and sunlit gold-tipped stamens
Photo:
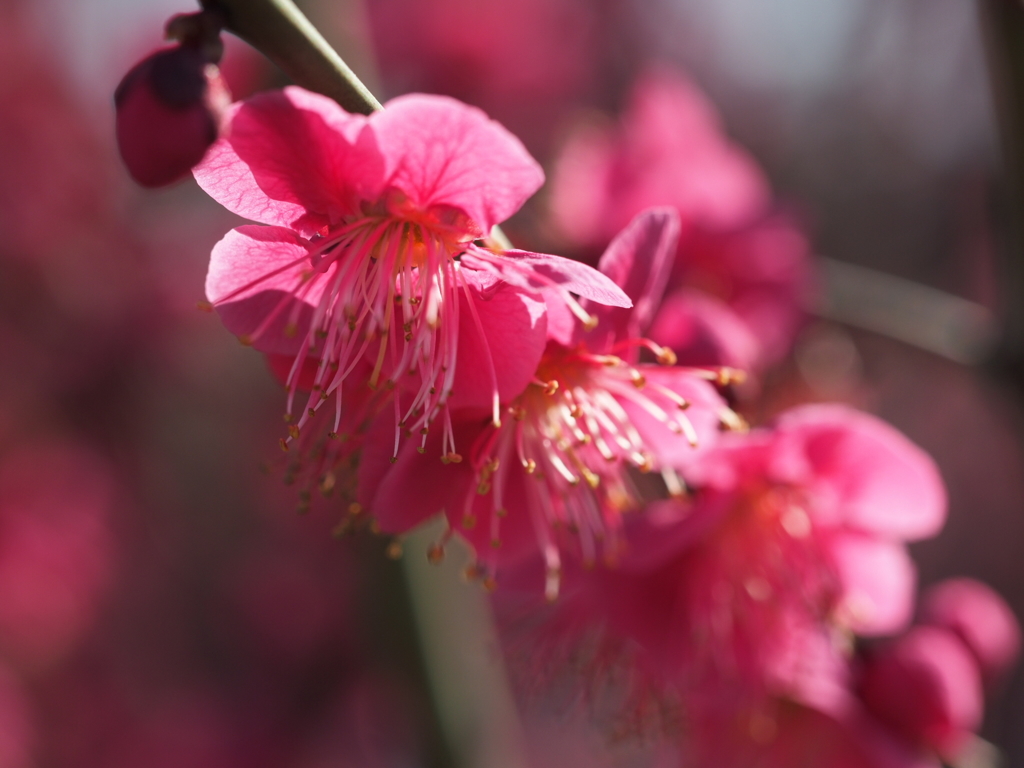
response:
[[[586,561],[616,557],[622,514],[641,505],[627,467],[683,466],[723,419],[735,418],[709,382],[719,372],[674,367],[671,351],[640,336],[677,232],[673,211],[649,211],[606,251],[600,268],[633,299],[632,310],[595,307],[599,323],[590,328],[564,308],[549,309],[548,343],[531,358],[531,378],[503,397],[510,418],[499,424],[463,408],[442,436],[397,454],[392,421],[372,429],[359,495],[384,530],[409,530],[443,509],[450,531],[475,546],[485,583],[499,559],[540,551],[549,598],[558,591],[566,531]],[[640,362],[641,348],[662,365]]]

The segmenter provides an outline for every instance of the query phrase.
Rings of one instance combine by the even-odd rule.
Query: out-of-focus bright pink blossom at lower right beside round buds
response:
[[[811,406],[723,435],[682,474],[692,495],[634,518],[617,567],[573,575],[553,645],[603,628],[640,679],[700,711],[781,696],[841,712],[849,636],[910,618],[904,542],[945,514],[934,463],[873,417]]]

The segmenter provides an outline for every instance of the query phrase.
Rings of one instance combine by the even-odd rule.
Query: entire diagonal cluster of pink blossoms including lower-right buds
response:
[[[454,99],[364,117],[291,87],[226,125],[195,175],[259,225],[213,249],[207,296],[285,384],[305,493],[398,537],[443,515],[430,559],[458,536],[534,642],[677,702],[694,765],[963,754],[1016,623],[961,583],[876,640],[913,616],[935,464],[845,406],[751,430],[730,407],[734,368],[787,353],[811,269],[691,84],[648,74],[561,157],[552,218],[596,267],[503,245],[543,172]]]

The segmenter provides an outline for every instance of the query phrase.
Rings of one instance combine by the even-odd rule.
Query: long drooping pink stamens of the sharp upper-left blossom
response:
[[[338,431],[342,385],[352,377],[375,390],[395,389],[399,431],[425,428],[452,389],[458,294],[468,290],[456,258],[462,243],[443,226],[378,215],[325,232],[312,245],[289,297],[286,334],[302,329],[304,338],[287,377],[286,419],[293,423],[286,449],[332,397]],[[296,420],[300,374],[310,366],[311,392]],[[403,377],[413,377],[412,386],[396,386]]]

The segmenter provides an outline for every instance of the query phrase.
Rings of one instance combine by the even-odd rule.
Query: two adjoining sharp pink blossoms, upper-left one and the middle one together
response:
[[[358,503],[396,534],[444,510],[488,583],[541,551],[553,597],[563,530],[613,558],[640,506],[627,468],[669,469],[735,422],[719,373],[641,336],[676,214],[638,216],[600,269],[501,248],[492,228],[543,174],[477,110],[406,96],[365,118],[289,88],[232,108],[196,177],[266,224],[214,248],[207,294],[283,372],[285,447],[327,407],[316,438],[361,451]]]

